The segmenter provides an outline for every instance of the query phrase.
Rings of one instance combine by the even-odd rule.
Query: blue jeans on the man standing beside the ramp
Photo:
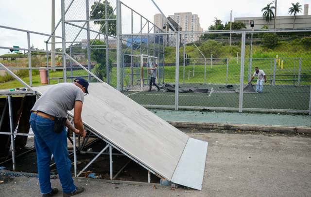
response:
[[[35,134],[35,151],[42,194],[52,191],[50,182],[50,163],[52,154],[56,162],[63,192],[70,193],[76,189],[71,177],[71,162],[68,158],[67,132],[64,127],[61,133],[54,132],[54,121],[31,114],[30,125]]]

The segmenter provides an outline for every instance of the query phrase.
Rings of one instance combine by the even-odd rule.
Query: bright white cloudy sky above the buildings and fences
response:
[[[66,0],[69,2],[70,0]],[[83,0],[75,0],[83,1]],[[93,1],[93,0],[90,0]],[[214,17],[224,23],[230,20],[230,10],[234,17],[261,16],[260,10],[272,0],[155,0],[165,15],[173,15],[175,12],[192,12],[200,17],[201,27],[207,30],[213,23]],[[51,33],[51,0],[0,0],[0,25],[25,30]],[[134,8],[140,14],[153,21],[153,15],[159,13],[151,0],[122,0],[128,6]],[[294,0],[278,0],[277,15],[288,15],[288,8]],[[300,4],[309,4],[311,0],[299,0]],[[311,9],[311,8],[310,8]],[[126,14],[125,8],[124,16]],[[60,0],[56,0],[56,19],[60,19]],[[310,13],[310,11],[309,11]],[[303,12],[299,15],[303,15]],[[130,26],[130,18],[122,17],[124,29]],[[138,23],[135,24],[138,26]],[[60,29],[57,34],[60,35]],[[31,35],[31,44],[35,47],[45,48],[45,36]],[[27,34],[17,33],[12,30],[0,29],[0,46],[12,47],[18,45],[27,47]],[[61,47],[56,46],[56,47]],[[0,54],[8,53],[8,50],[0,49]]]

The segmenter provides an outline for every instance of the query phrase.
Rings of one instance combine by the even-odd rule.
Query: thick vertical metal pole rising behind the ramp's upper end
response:
[[[120,91],[120,67],[121,67],[121,12],[120,0],[117,0],[117,90]]]

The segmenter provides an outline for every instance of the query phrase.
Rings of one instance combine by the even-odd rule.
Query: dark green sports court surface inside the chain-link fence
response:
[[[180,85],[181,87],[186,87]],[[222,93],[233,89],[220,89],[225,85],[196,85],[187,87],[205,87],[207,93],[179,93],[179,106],[201,107],[239,107],[239,93]],[[256,89],[256,86],[253,86]],[[213,91],[211,91],[213,89]],[[174,106],[175,93],[163,91],[126,91],[129,98],[140,105]],[[263,93],[244,93],[244,108],[296,109],[308,110],[310,86],[270,86],[265,85]]]

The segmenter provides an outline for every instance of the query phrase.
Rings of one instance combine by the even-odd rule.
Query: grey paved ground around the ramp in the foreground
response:
[[[208,141],[202,191],[154,184],[76,179],[80,197],[307,197],[311,194],[311,136],[184,129]],[[61,189],[59,180],[52,185]],[[0,197],[40,196],[36,178],[0,183]],[[62,196],[61,193],[57,196]],[[78,197],[77,196],[77,197]]]

